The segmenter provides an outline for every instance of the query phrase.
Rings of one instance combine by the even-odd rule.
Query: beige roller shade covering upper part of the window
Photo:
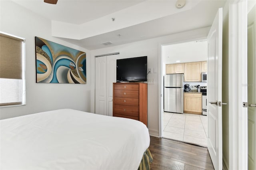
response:
[[[0,33],[0,78],[22,79],[23,42]]]

